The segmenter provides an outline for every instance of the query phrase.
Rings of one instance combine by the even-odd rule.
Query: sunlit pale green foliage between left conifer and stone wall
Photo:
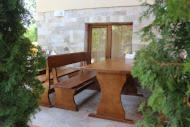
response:
[[[36,26],[36,24],[30,25],[30,27],[27,29],[24,36],[26,38],[29,38],[31,42],[36,42],[37,41],[37,26]]]

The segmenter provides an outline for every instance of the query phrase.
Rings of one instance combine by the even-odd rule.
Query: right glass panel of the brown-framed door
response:
[[[125,53],[132,53],[132,25],[112,26],[111,58],[124,58]]]

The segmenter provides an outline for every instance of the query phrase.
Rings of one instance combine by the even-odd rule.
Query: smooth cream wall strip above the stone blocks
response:
[[[135,6],[145,0],[37,0],[38,12],[100,7]],[[147,0],[152,1],[152,0]]]

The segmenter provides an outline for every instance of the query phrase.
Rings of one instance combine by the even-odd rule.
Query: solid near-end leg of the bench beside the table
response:
[[[73,89],[55,88],[55,107],[78,111],[74,95]]]

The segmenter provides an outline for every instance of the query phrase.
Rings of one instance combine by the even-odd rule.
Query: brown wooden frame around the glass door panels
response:
[[[107,42],[106,42],[106,59],[111,59],[112,50],[112,26],[113,25],[132,25],[132,22],[112,22],[112,23],[86,23],[86,49],[91,59],[92,48],[92,29],[93,28],[107,28]]]

